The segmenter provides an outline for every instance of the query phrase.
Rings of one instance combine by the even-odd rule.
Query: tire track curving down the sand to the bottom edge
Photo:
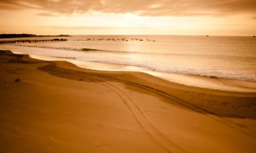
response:
[[[168,153],[185,153],[186,151],[180,148],[180,146],[177,146],[175,143],[173,143],[171,140],[169,140],[165,135],[163,135],[156,127],[147,119],[145,114],[143,114],[143,111],[138,107],[136,103],[132,100],[132,98],[126,94],[123,90],[120,88],[117,88],[117,86],[114,86],[113,84],[110,84],[109,82],[103,82],[103,80],[96,79],[95,76],[88,76],[85,74],[77,73],[77,71],[72,72],[69,69],[62,69],[59,67],[55,67],[53,65],[46,65],[44,67],[40,67],[39,69],[43,71],[47,71],[49,73],[61,73],[62,75],[70,75],[72,77],[77,78],[83,78],[85,80],[90,80],[93,82],[98,82],[99,84],[102,84],[102,86],[106,86],[107,88],[110,88],[115,92],[115,94],[122,99],[128,110],[130,111],[130,114],[134,117],[136,122],[141,126],[143,131],[145,131],[146,135],[156,143],[157,146],[159,146],[163,152]],[[106,81],[106,80],[105,80]]]

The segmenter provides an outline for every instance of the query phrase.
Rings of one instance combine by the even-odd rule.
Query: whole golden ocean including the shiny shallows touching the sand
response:
[[[70,61],[89,69],[143,71],[192,86],[222,89],[215,86],[218,85],[253,90],[256,87],[256,38],[253,37],[73,35],[58,38],[68,41],[5,44],[0,48],[30,54],[33,58]],[[197,84],[186,80],[188,77],[203,82],[219,78],[236,83],[205,85],[201,81]]]

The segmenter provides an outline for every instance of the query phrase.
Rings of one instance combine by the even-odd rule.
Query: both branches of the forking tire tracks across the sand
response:
[[[213,120],[216,120],[218,122],[221,122],[227,126],[229,126],[232,129],[236,129],[237,131],[240,131],[244,135],[250,136],[253,139],[256,139],[255,135],[252,135],[249,131],[246,131],[246,129],[243,129],[242,127],[236,125],[235,123],[231,122],[228,119],[225,118],[218,118],[214,112],[209,112],[208,110],[205,110],[201,107],[198,107],[197,105],[194,105],[192,103],[189,103],[187,101],[184,101],[182,99],[179,99],[177,97],[174,97],[173,95],[170,95],[167,92],[163,92],[162,90],[158,90],[155,88],[152,88],[150,86],[145,86],[143,84],[137,84],[135,82],[129,82],[126,80],[121,80],[117,78],[111,78],[106,75],[100,75],[96,73],[88,73],[84,71],[76,71],[72,69],[63,69],[61,67],[56,67],[53,64],[46,65],[44,67],[39,67],[38,69],[41,69],[42,71],[48,71],[48,73],[61,73],[64,75],[70,75],[76,78],[83,78],[85,80],[90,80],[94,82],[98,82],[102,84],[103,86],[106,86],[107,88],[110,88],[115,92],[120,99],[125,103],[126,107],[130,110],[130,113],[132,116],[134,116],[135,120],[137,120],[138,124],[141,126],[141,128],[147,133],[147,135],[155,141],[155,143],[158,144],[164,150],[165,152],[186,152],[184,149],[182,149],[180,146],[177,146],[175,143],[173,143],[168,137],[166,137],[163,133],[161,133],[155,126],[150,122],[150,120],[147,119],[147,116],[143,113],[143,111],[139,108],[139,106],[132,100],[131,97],[129,97],[126,92],[123,90],[117,88],[117,86],[114,86],[113,84],[110,84],[106,81],[115,81],[115,82],[122,82],[124,84],[128,84],[130,86],[136,86],[138,88],[143,88],[144,90],[154,92],[162,97],[165,97],[166,99],[169,99],[175,103],[178,103],[184,107],[187,107],[189,109],[193,109],[196,112],[201,112],[204,114],[212,114],[214,116],[207,116],[208,118],[211,118]],[[54,75],[54,74],[53,74]]]

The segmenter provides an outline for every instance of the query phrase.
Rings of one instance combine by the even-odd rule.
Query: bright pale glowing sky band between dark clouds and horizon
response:
[[[59,3],[59,1],[52,1]],[[20,2],[25,5],[27,2]],[[100,1],[106,5],[106,1]],[[141,16],[143,11],[115,13],[89,10],[71,14],[27,10],[0,10],[1,33],[69,35],[255,35],[256,19],[248,14],[229,16]],[[161,3],[148,7],[160,9]],[[208,12],[209,13],[209,12]]]

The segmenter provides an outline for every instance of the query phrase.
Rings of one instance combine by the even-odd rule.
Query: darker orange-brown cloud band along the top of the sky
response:
[[[255,0],[0,0],[0,10],[36,9],[60,14],[103,12],[140,16],[256,16]],[[43,15],[43,14],[41,14]],[[46,15],[46,14],[44,14]]]

